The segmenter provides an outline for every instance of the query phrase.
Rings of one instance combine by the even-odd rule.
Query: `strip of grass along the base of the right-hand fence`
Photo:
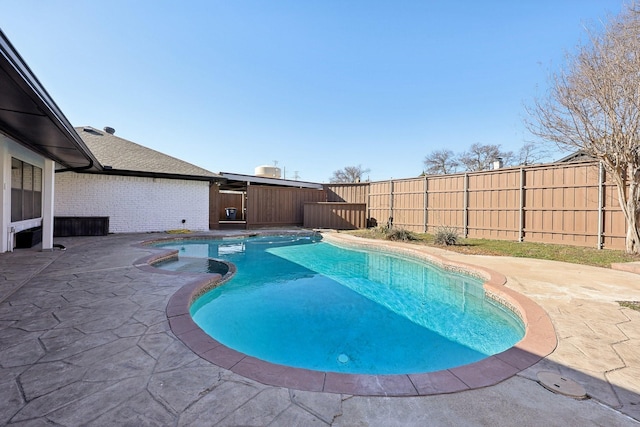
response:
[[[384,234],[376,229],[349,231],[349,234],[370,239],[382,239]],[[413,233],[416,240],[413,244],[437,246],[434,236],[425,233]],[[597,250],[580,246],[567,246],[532,242],[511,242],[506,240],[460,239],[458,244],[442,246],[443,248],[469,254],[513,256],[519,258],[547,259],[552,261],[570,262],[573,264],[592,265],[610,268],[611,263],[640,261],[639,255],[630,255],[624,251]]]

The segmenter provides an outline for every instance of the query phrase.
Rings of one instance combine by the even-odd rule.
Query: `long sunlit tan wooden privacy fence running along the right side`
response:
[[[597,162],[563,163],[362,184],[329,184],[327,199],[367,204],[371,225],[465,237],[623,249],[615,184]]]

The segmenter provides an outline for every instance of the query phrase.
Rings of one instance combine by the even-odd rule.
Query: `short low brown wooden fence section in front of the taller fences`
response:
[[[305,228],[355,230],[367,226],[366,203],[323,202],[304,204]]]

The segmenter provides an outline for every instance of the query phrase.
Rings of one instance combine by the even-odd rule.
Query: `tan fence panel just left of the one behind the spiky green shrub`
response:
[[[393,182],[393,225],[410,231],[424,231],[425,179]]]

